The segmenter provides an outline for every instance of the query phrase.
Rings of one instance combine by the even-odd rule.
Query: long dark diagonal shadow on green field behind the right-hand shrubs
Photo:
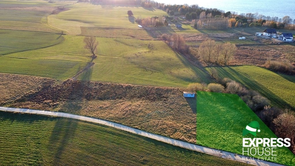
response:
[[[224,68],[228,68],[230,72],[232,73],[228,72]],[[262,84],[258,83],[257,81],[253,79],[249,79],[245,77],[244,75],[240,74],[239,72],[232,69],[231,67],[220,67],[220,68],[217,68],[217,70],[218,70],[218,73],[224,73],[223,75],[221,75],[222,77],[232,78],[232,76],[236,75],[236,77],[234,76],[235,81],[242,83],[244,86],[250,89],[258,91],[261,95],[268,98],[273,104],[276,104],[282,107],[288,107],[294,110],[294,107],[292,107],[290,104],[286,103],[286,101],[284,101],[282,98],[278,97],[276,94],[268,90],[268,88],[266,88],[265,86],[263,86]]]

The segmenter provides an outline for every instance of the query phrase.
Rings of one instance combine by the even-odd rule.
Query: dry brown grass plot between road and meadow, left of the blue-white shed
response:
[[[11,106],[40,107],[115,121],[196,142],[196,98],[183,89],[67,80]]]

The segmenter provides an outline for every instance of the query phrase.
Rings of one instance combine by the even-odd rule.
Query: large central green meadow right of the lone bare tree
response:
[[[98,41],[95,64],[80,75],[81,80],[173,87],[211,80],[165,42],[111,38]]]

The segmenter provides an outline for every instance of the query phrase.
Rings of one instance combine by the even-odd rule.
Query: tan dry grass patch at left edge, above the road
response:
[[[0,73],[0,105],[42,89],[49,78]]]

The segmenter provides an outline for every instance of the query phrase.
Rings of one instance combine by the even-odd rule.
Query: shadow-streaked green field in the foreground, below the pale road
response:
[[[0,112],[0,165],[246,165],[106,126]]]

